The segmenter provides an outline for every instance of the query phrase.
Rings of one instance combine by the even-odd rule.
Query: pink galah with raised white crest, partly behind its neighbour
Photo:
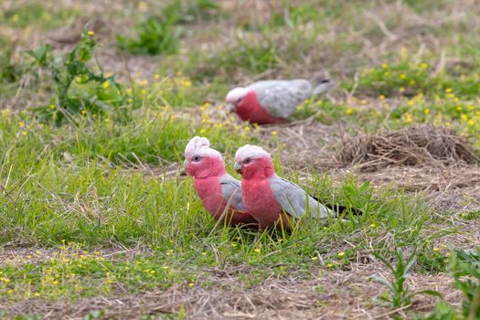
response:
[[[194,177],[197,195],[215,219],[223,217],[229,226],[256,228],[257,221],[243,205],[240,181],[227,174],[222,156],[210,148],[207,138],[192,138],[185,148],[185,158],[187,174]]]

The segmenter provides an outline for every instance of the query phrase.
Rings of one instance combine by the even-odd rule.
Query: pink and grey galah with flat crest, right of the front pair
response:
[[[309,212],[313,218],[337,217],[346,207],[322,204],[303,188],[275,174],[272,156],[257,145],[244,145],[235,154],[235,170],[241,175],[241,196],[245,208],[259,223],[259,229],[282,225]],[[352,213],[360,210],[351,208]]]

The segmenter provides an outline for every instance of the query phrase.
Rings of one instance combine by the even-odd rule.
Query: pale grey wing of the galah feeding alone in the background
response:
[[[312,95],[308,80],[266,80],[250,86],[257,93],[261,106],[278,118],[288,118],[305,99]]]

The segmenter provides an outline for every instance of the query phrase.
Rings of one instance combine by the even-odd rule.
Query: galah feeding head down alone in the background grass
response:
[[[332,81],[262,80],[247,87],[235,88],[227,94],[227,108],[240,119],[251,123],[286,123],[295,109],[311,96],[334,87]]]

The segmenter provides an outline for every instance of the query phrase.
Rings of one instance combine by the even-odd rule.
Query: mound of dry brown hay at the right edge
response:
[[[337,165],[376,171],[391,165],[473,165],[479,158],[464,137],[430,124],[349,138],[334,155]]]

